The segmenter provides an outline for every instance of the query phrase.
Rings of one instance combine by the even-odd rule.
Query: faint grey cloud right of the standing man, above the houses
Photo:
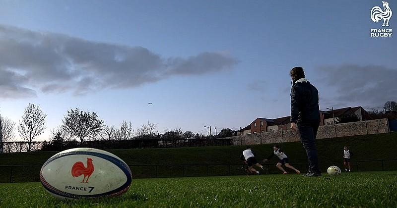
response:
[[[325,88],[332,87],[335,90],[333,96],[322,96],[324,104],[377,107],[387,101],[397,100],[397,69],[380,65],[344,64],[323,66],[319,72],[323,85],[327,86]]]

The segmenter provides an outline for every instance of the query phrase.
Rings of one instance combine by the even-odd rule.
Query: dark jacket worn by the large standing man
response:
[[[320,123],[319,91],[306,79],[291,88],[291,123]]]

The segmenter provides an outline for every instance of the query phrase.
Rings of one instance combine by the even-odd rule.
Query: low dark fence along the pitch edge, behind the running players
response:
[[[352,161],[352,171],[397,170],[397,159]],[[293,163],[295,168],[306,172],[308,164]],[[343,171],[342,162],[320,163],[326,171],[331,165],[337,165]],[[242,164],[130,164],[133,178],[165,177],[202,177],[244,175]],[[265,164],[265,174],[279,174],[274,164]],[[0,183],[37,182],[41,165],[0,165]],[[291,171],[287,168],[287,171]]]

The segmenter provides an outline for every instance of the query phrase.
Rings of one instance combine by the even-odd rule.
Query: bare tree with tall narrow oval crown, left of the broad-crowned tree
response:
[[[22,139],[28,141],[27,152],[32,150],[33,139],[44,132],[46,116],[40,105],[30,103],[25,108],[22,120],[19,121],[18,132]]]

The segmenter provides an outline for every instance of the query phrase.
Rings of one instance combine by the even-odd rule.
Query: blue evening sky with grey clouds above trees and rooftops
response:
[[[160,133],[204,135],[287,116],[294,66],[319,89],[321,109],[397,100],[397,30],[370,37],[385,28],[370,17],[381,0],[0,3],[0,113],[18,123],[27,104],[40,105],[37,141],[75,107],[116,127],[150,121]]]

